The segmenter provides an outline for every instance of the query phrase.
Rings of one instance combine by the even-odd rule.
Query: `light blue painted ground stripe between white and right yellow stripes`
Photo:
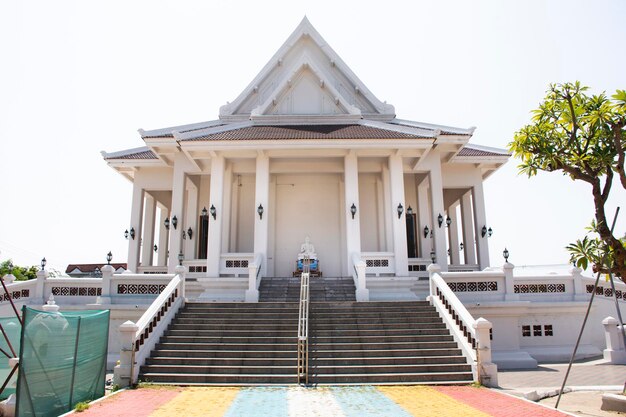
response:
[[[331,387],[346,417],[412,417],[372,386]]]

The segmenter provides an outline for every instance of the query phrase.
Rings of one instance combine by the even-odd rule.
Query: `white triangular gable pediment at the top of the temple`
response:
[[[222,120],[302,115],[395,116],[393,106],[365,87],[306,17],[239,97],[220,109]]]

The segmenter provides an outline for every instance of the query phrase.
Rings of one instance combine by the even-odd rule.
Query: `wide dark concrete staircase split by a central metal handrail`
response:
[[[354,301],[352,279],[312,278],[313,384],[468,383],[472,373],[427,302]],[[300,278],[264,279],[259,303],[187,303],[140,379],[181,385],[296,383]]]

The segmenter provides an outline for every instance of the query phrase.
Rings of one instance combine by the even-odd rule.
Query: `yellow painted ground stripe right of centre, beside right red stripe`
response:
[[[425,386],[377,387],[414,417],[489,417],[480,410]]]

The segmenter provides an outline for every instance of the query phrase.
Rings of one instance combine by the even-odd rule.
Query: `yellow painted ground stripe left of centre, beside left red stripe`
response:
[[[237,396],[239,388],[186,388],[150,417],[221,417]]]

